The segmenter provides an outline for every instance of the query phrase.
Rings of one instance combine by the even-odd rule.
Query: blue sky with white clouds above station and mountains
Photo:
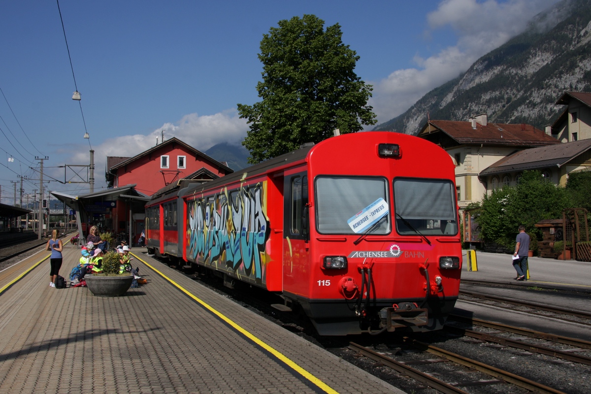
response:
[[[35,157],[49,158],[44,178],[80,180],[59,166],[89,164],[92,146],[97,191],[107,156],[134,156],[162,131],[201,151],[239,145],[248,125],[236,104],[259,100],[259,44],[281,19],[314,14],[325,26],[339,23],[385,122],[556,2],[60,0],[74,85],[57,2],[0,0],[1,202],[13,203],[18,175],[27,177],[25,194],[38,189]],[[72,100],[76,86],[81,102]],[[88,187],[46,184],[74,196]]]

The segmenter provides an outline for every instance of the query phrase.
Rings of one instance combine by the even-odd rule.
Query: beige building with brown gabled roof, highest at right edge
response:
[[[591,139],[591,93],[565,92],[556,102],[567,108],[551,126],[560,142]]]

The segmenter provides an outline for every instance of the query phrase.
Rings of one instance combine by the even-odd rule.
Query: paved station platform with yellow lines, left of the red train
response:
[[[49,255],[0,271],[0,393],[403,393],[134,248],[114,298],[51,288]]]

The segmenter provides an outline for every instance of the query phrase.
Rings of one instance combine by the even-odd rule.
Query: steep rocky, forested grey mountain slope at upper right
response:
[[[479,58],[462,76],[431,90],[376,130],[416,134],[430,119],[492,122],[543,129],[564,106],[567,90],[591,89],[591,0],[564,0],[530,22],[528,30]],[[428,115],[427,115],[428,113]]]

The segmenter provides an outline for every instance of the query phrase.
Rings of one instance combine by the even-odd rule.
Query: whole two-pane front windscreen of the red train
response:
[[[393,186],[398,234],[457,234],[455,190],[451,181],[395,178]],[[388,187],[388,180],[382,177],[317,177],[317,231],[320,234],[389,234]]]

